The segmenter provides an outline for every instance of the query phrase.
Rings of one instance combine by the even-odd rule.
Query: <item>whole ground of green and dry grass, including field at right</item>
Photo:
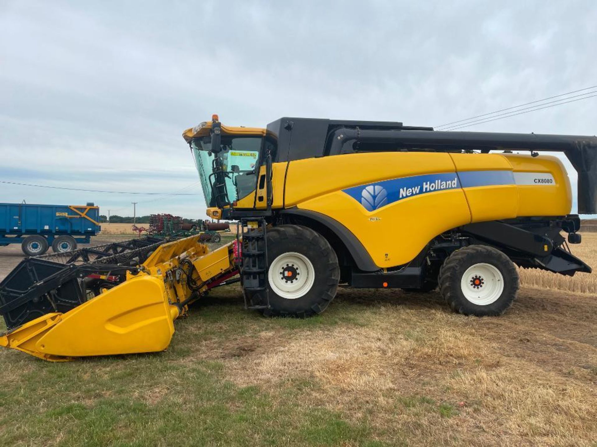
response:
[[[573,246],[593,266],[596,236]],[[341,289],[315,318],[268,319],[219,288],[166,352],[0,350],[0,443],[596,446],[595,275],[522,271],[498,318],[437,292]]]

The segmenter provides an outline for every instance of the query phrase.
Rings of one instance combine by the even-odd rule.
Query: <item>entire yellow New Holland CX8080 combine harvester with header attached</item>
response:
[[[237,221],[237,240],[25,259],[0,283],[0,345],[51,361],[163,350],[193,301],[239,280],[264,315],[322,312],[346,284],[439,287],[454,311],[483,316],[515,299],[515,265],[591,271],[568,248],[581,237],[565,168],[538,153],[565,153],[579,212],[597,213],[595,136],[303,118],[234,128],[215,115],[183,136],[207,215]]]

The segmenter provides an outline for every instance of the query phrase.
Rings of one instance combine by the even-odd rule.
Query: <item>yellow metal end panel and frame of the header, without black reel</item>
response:
[[[0,337],[11,347],[48,361],[74,357],[164,350],[174,334],[173,321],[209,287],[215,277],[233,272],[230,246],[208,252],[199,235],[159,246],[137,274],[104,290],[66,313],[47,313]],[[191,262],[196,290],[179,274]]]

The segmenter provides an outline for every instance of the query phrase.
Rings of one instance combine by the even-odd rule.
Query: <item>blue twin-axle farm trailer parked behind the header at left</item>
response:
[[[21,244],[27,256],[38,256],[52,247],[70,252],[77,243],[90,243],[101,226],[100,207],[87,205],[37,205],[0,203],[0,246]]]

